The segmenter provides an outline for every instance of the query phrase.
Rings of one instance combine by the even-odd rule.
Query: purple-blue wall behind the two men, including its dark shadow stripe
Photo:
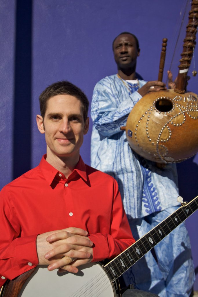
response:
[[[166,73],[186,0],[32,0],[32,5],[26,0],[1,0],[0,6],[1,188],[35,167],[45,153],[45,140],[35,121],[41,91],[50,83],[66,79],[82,88],[91,102],[96,82],[116,73],[112,40],[122,31],[131,31],[139,38],[137,71],[145,80],[156,80],[162,38],[168,38]],[[172,63],[174,76],[178,73],[185,26]],[[198,46],[195,59],[198,61]],[[192,70],[191,66],[189,75]],[[198,93],[197,77],[191,75],[188,88]],[[90,137],[91,127],[81,150],[88,164]],[[198,161],[193,160],[178,165],[180,194],[185,200],[198,194]],[[194,236],[197,213],[186,223],[198,274],[198,240]],[[198,280],[194,288],[198,290]]]

